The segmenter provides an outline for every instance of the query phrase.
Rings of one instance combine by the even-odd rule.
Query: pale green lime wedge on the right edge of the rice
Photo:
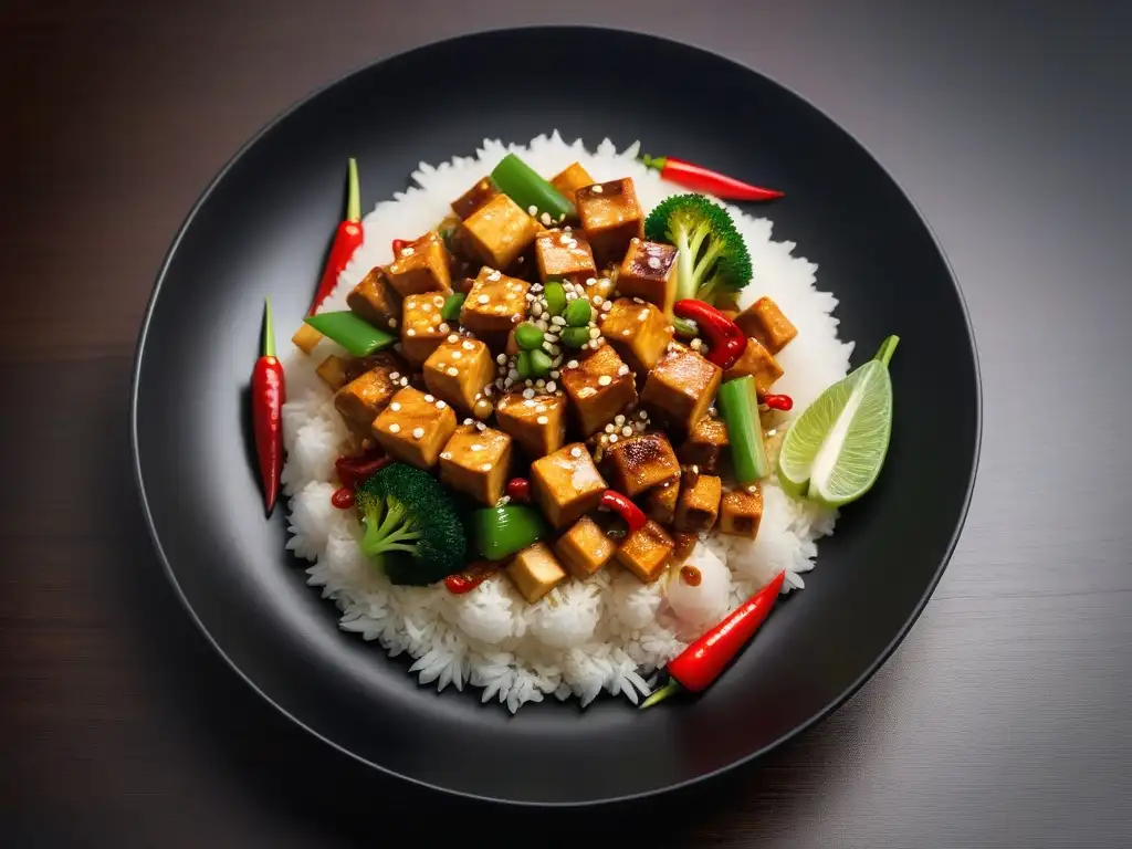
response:
[[[892,432],[889,360],[900,338],[838,380],[806,408],[779,453],[779,482],[830,507],[855,501],[876,482]]]

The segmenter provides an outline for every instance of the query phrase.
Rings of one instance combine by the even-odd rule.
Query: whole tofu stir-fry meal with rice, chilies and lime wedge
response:
[[[290,547],[423,683],[512,711],[703,689],[875,481],[895,338],[846,377],[813,266],[655,172],[779,191],[557,135],[520,153],[422,166],[361,221],[351,161],[350,248],[273,401]]]

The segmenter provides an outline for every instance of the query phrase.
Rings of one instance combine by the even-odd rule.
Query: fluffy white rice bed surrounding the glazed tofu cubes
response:
[[[645,209],[680,192],[634,160],[637,145],[618,153],[606,140],[590,153],[582,140],[566,144],[557,132],[526,146],[486,140],[474,157],[438,166],[421,163],[413,173],[415,186],[366,216],[365,245],[324,309],[344,309],[350,289],[374,266],[392,260],[394,238],[435,228],[449,213],[448,204],[508,151],[544,175],[580,161],[599,181],[632,177]],[[832,316],[837,299],[815,288],[816,266],[792,256],[794,243],[771,240],[770,221],[728,208],[755,268],[744,306],[770,295],[798,327],[798,337],[779,357],[786,376],[777,387],[794,396],[796,412],[804,410],[849,367],[852,344],[838,340]],[[548,695],[577,696],[584,706],[603,689],[636,703],[648,693],[650,676],[698,635],[668,608],[664,581],[644,585],[610,565],[588,581],[564,583],[530,606],[503,576],[466,595],[453,595],[443,585],[393,586],[367,561],[358,548],[361,526],[353,512],[331,506],[334,461],[348,434],[315,367],[335,351],[333,343],[323,341],[309,357],[295,349],[283,353],[289,396],[283,409],[283,482],[291,499],[293,535],[288,548],[311,561],[308,583],[337,604],[341,627],[376,642],[391,657],[408,652],[422,685],[462,689],[471,684],[481,688],[484,702],[498,700],[512,712]],[[712,534],[692,555],[693,563],[712,554],[724,560],[732,608],[782,569],[783,592],[801,589],[803,573],[814,567],[817,538],[833,531],[835,513],[795,501],[771,481],[764,482],[763,498],[762,525],[753,542]]]

